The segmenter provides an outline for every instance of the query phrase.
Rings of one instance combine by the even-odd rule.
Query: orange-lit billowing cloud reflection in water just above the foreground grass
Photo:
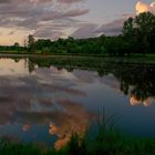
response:
[[[69,99],[60,100],[58,103],[64,108],[63,118],[50,123],[49,131],[50,134],[55,134],[59,137],[54,144],[55,148],[64,146],[72,133],[82,136],[89,125],[89,120],[92,117],[92,114],[87,113],[81,104],[74,103]]]

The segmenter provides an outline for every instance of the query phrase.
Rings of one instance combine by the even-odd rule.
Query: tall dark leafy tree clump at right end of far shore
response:
[[[151,12],[143,12],[124,22],[123,35],[130,41],[133,49],[136,49],[135,51],[153,52],[152,40],[155,40],[154,32],[155,16]]]

